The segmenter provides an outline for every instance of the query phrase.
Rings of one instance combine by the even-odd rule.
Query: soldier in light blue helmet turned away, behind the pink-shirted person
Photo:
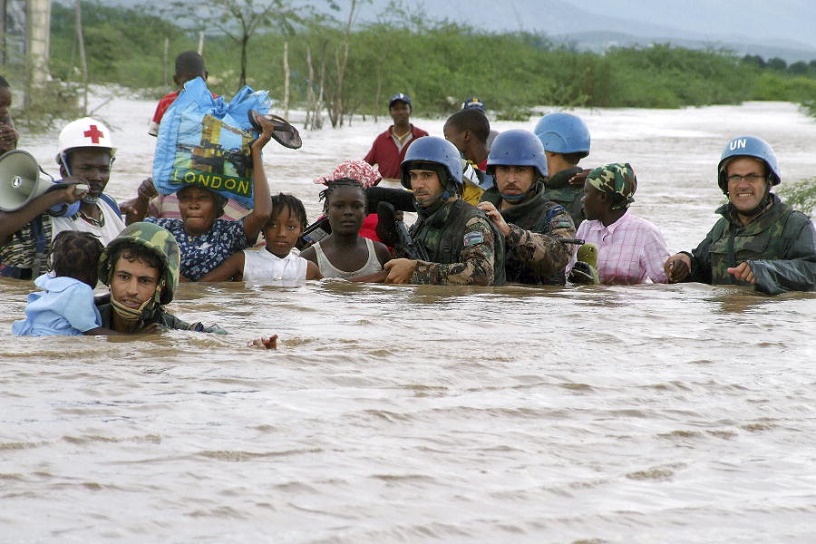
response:
[[[578,163],[589,155],[589,129],[571,113],[548,113],[533,132],[544,145],[549,177],[544,180],[544,198],[561,204],[572,216],[575,228],[584,220],[581,197],[589,170]]]

